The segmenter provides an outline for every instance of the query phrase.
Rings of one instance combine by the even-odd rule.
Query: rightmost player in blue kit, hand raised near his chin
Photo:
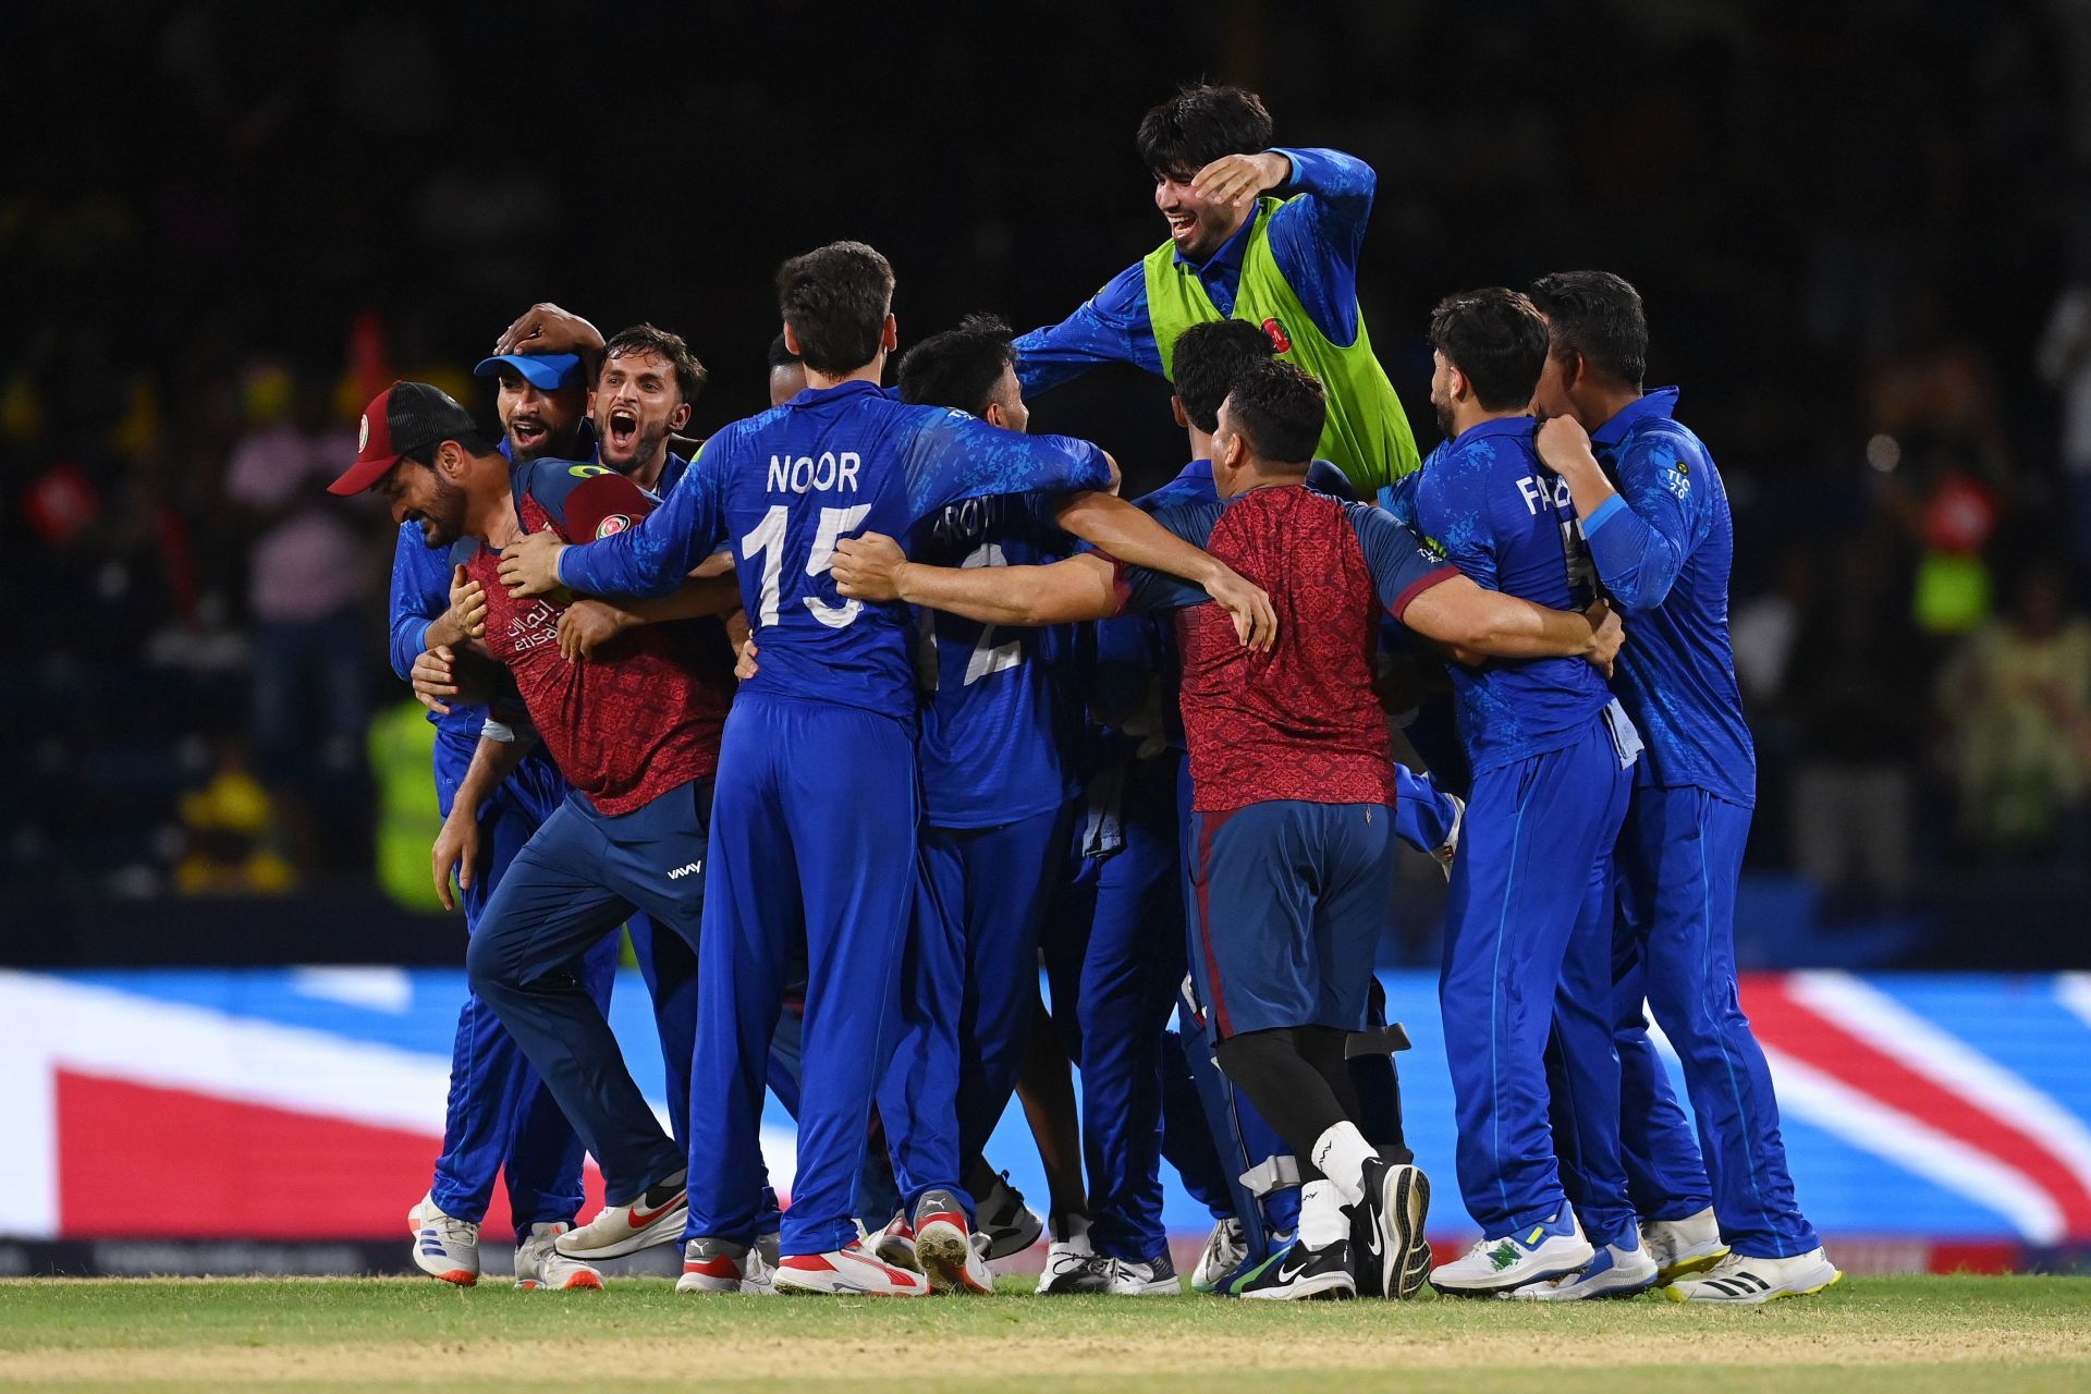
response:
[[[1531,295],[1549,343],[1533,399],[1547,418],[1539,458],[1568,487],[1598,579],[1631,617],[1614,686],[1648,744],[1616,851],[1612,1001],[1618,1122],[1644,1237],[1664,1279],[1710,1269],[1667,1296],[1821,1292],[1842,1275],[1794,1200],[1771,1072],[1736,995],[1736,882],[1756,759],[1727,633],[1727,491],[1675,416],[1677,389],[1641,391],[1648,320],[1635,288],[1610,272],[1562,272]],[[1683,1062],[1698,1147],[1644,1005]]]

